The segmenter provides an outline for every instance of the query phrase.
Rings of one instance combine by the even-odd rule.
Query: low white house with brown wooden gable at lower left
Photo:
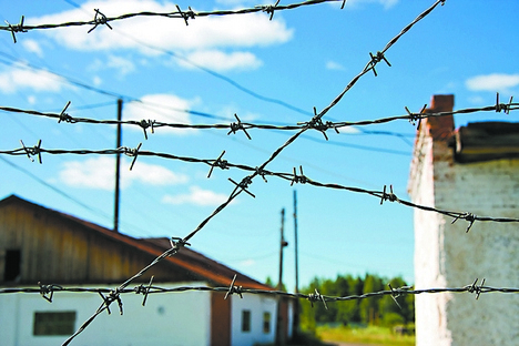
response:
[[[171,248],[167,238],[134,238],[16,195],[0,201],[0,289],[39,287],[115,288]],[[271,287],[191,250],[165,257],[132,283],[164,288]],[[186,291],[121,295],[72,345],[254,345],[275,340],[277,299],[265,294]],[[2,345],[60,345],[102,304],[96,293],[0,294]],[[282,320],[288,330],[287,303]]]

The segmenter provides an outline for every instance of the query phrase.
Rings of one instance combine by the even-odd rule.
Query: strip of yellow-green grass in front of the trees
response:
[[[317,336],[325,342],[343,342],[384,346],[413,346],[415,336],[395,335],[390,328],[317,327]]]

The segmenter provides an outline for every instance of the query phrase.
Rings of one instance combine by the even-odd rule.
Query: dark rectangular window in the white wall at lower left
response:
[[[75,312],[34,313],[33,335],[71,335],[75,330]]]

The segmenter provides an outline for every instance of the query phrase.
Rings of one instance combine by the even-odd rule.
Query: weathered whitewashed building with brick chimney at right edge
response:
[[[429,112],[451,112],[454,95],[435,95]],[[519,216],[519,124],[428,118],[417,131],[409,194],[416,204],[478,216]],[[519,286],[517,223],[469,223],[415,210],[415,286]],[[416,345],[517,345],[519,295],[416,296]]]

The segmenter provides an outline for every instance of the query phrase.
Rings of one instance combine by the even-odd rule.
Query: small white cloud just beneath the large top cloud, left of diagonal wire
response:
[[[197,65],[216,71],[254,70],[263,64],[263,62],[251,52],[224,53],[218,50],[204,50],[190,53],[186,58]],[[194,69],[192,64],[185,61],[181,61],[180,65]]]

